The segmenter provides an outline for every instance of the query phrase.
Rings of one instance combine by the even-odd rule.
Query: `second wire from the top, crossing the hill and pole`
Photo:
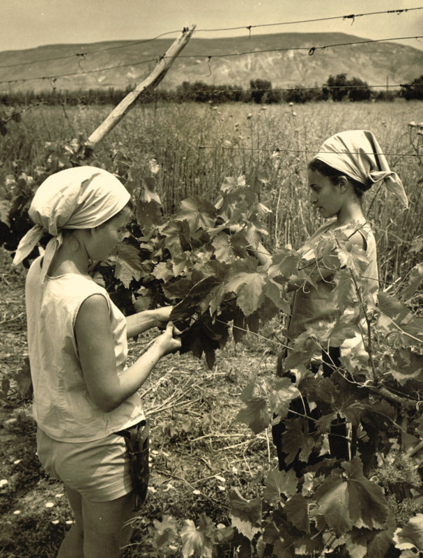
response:
[[[207,56],[204,54],[180,54],[178,59],[186,59],[186,58],[203,58],[210,62],[213,58],[228,58],[230,56],[245,56],[246,54],[263,54],[263,52],[286,52],[289,50],[307,50],[307,52],[312,55],[316,50],[326,50],[328,48],[334,47],[343,47],[343,46],[351,46],[351,45],[364,45],[364,44],[371,44],[371,43],[382,43],[385,41],[392,41],[392,40],[408,40],[408,39],[419,39],[423,38],[422,35],[418,36],[410,36],[410,37],[393,37],[393,38],[385,38],[385,39],[375,39],[375,40],[360,40],[360,41],[351,41],[349,43],[336,43],[334,45],[322,45],[317,47],[285,47],[279,49],[266,49],[266,50],[251,50],[245,52],[229,52],[226,54],[213,54],[213,56]],[[171,56],[161,56],[160,60],[170,59]],[[70,77],[74,75],[89,75],[93,73],[109,71],[109,70],[116,70],[118,68],[128,68],[128,66],[141,66],[142,64],[146,64],[149,62],[157,62],[159,59],[148,59],[142,60],[139,62],[132,62],[127,64],[120,64],[118,66],[109,66],[108,68],[98,68],[96,70],[86,70],[84,72],[71,72],[66,74],[57,74],[57,75],[45,75],[45,76],[38,76],[38,77],[26,77],[22,79],[15,79],[15,80],[0,80],[0,84],[12,84],[12,83],[24,83],[24,82],[31,82],[36,80],[57,80],[59,77]]]

